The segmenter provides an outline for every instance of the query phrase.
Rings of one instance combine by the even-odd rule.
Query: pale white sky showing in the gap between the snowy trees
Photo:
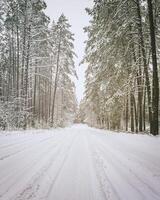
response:
[[[85,70],[86,66],[79,63],[84,56],[85,44],[87,35],[83,32],[83,28],[89,24],[89,16],[85,11],[86,7],[91,7],[93,0],[45,0],[47,3],[46,14],[51,18],[51,21],[57,20],[63,13],[72,25],[72,32],[75,34],[75,53],[78,58],[75,58],[75,64],[79,80],[76,81],[77,100],[83,97]]]

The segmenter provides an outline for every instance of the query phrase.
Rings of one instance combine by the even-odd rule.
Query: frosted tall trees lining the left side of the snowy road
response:
[[[43,0],[0,0],[0,128],[64,126],[76,110],[73,34]]]

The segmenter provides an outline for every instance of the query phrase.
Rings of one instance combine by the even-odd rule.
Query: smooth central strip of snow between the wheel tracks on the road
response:
[[[68,153],[54,187],[49,196],[44,199],[106,200],[95,174],[86,134],[77,129],[74,131],[77,132],[76,140]]]

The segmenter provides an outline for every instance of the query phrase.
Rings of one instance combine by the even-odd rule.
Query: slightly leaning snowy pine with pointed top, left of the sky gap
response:
[[[63,98],[65,96],[65,90],[72,89],[72,83],[70,83],[71,76],[75,76],[74,66],[74,51],[73,51],[73,34],[69,30],[70,25],[68,20],[62,14],[58,19],[56,27],[54,28],[54,50],[56,51],[55,58],[55,73],[54,73],[54,91],[53,91],[53,102],[52,102],[52,125],[55,123],[55,106],[57,90],[62,90]],[[68,85],[68,82],[70,83]],[[61,87],[59,87],[61,85]],[[58,98],[58,97],[57,97]],[[67,97],[68,99],[69,97]],[[67,105],[66,105],[67,106]],[[65,108],[65,107],[64,107]],[[63,108],[62,108],[63,110]]]

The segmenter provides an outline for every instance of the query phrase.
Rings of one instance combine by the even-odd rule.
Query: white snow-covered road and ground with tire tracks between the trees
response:
[[[0,134],[0,200],[160,200],[160,138],[84,125]]]

